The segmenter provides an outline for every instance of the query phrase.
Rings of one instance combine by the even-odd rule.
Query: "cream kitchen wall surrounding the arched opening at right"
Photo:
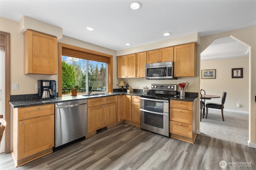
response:
[[[248,101],[249,101],[249,141],[250,147],[256,148],[256,103],[254,96],[256,95],[256,26],[227,31],[201,37],[201,44],[198,46],[198,55],[202,53],[215,39],[231,36],[240,43],[249,47],[249,81],[248,81]],[[200,68],[198,68],[200,69]],[[199,71],[199,70],[198,70]],[[200,80],[199,80],[200,81]],[[247,88],[247,87],[244,87]],[[200,114],[198,113],[198,116]],[[242,122],[241,122],[242,123]],[[200,126],[200,125],[199,125]],[[198,129],[198,127],[197,127]]]

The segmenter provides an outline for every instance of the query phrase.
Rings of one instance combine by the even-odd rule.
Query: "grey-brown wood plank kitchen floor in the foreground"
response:
[[[226,169],[255,170],[256,150],[204,135],[190,144],[122,124],[18,168],[11,154],[2,153],[0,169],[220,170],[222,160]]]

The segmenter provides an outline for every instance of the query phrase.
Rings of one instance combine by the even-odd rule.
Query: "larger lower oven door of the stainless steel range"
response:
[[[140,108],[140,128],[170,137],[169,114]]]

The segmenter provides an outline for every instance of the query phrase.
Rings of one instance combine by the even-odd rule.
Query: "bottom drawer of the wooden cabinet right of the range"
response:
[[[192,138],[192,125],[170,121],[170,133]]]

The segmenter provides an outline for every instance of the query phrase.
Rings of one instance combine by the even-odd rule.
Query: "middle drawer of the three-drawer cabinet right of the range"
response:
[[[192,111],[170,108],[170,120],[192,124]]]

